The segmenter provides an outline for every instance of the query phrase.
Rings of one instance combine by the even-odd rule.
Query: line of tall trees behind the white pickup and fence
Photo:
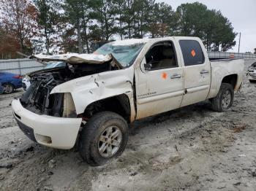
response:
[[[236,32],[227,17],[198,2],[154,0],[0,0],[0,54],[91,52],[114,39],[198,36],[207,50],[227,51]]]

